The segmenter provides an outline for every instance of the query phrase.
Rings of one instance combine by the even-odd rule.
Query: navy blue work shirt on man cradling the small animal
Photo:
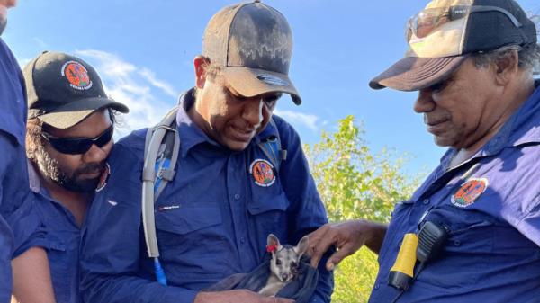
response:
[[[114,145],[111,177],[86,220],[81,249],[86,302],[193,302],[199,290],[255,269],[266,254],[268,234],[296,244],[327,222],[300,138],[288,123],[274,116],[277,129],[269,124],[244,151],[233,152],[189,119],[192,93],[184,94],[176,117],[181,146],[175,179],[155,205],[169,286],[155,281],[141,229],[143,129]],[[287,159],[279,174],[266,170],[264,178],[255,178],[254,166],[270,164],[257,142],[276,131]],[[333,288],[333,276],[321,264],[314,303],[329,302]]]

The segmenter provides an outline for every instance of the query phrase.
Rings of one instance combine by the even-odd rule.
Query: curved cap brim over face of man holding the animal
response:
[[[258,94],[285,93],[291,95],[296,105],[302,103],[300,94],[298,94],[293,82],[287,75],[257,68],[225,67],[223,76],[225,76],[229,85],[243,96],[253,97]]]

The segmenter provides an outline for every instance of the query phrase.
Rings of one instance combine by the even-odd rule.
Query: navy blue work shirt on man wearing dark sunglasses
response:
[[[47,251],[56,302],[81,302],[78,276],[81,234],[76,218],[60,202],[50,197],[30,162],[28,173],[31,191],[39,197],[34,204],[35,211],[47,229],[47,238],[34,241],[34,244]]]

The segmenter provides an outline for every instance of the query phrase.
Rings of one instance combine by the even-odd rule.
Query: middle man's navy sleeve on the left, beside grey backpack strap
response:
[[[141,154],[142,155],[142,154]],[[111,175],[89,209],[81,245],[81,294],[85,302],[193,302],[197,292],[164,287],[145,271],[141,236],[142,160],[117,144]]]

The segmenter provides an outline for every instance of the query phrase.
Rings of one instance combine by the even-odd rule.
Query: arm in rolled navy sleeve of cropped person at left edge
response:
[[[14,137],[0,130],[0,180],[20,178],[20,186],[6,186],[0,196],[0,205],[6,222],[14,234],[14,259],[12,260],[13,294],[22,303],[54,303],[47,253],[40,247],[45,232],[40,216],[34,208],[34,195],[28,185],[26,155]],[[7,180],[7,179],[6,179]],[[24,182],[25,181],[25,182]],[[4,187],[4,182],[2,182]],[[11,199],[11,200],[10,200]]]

